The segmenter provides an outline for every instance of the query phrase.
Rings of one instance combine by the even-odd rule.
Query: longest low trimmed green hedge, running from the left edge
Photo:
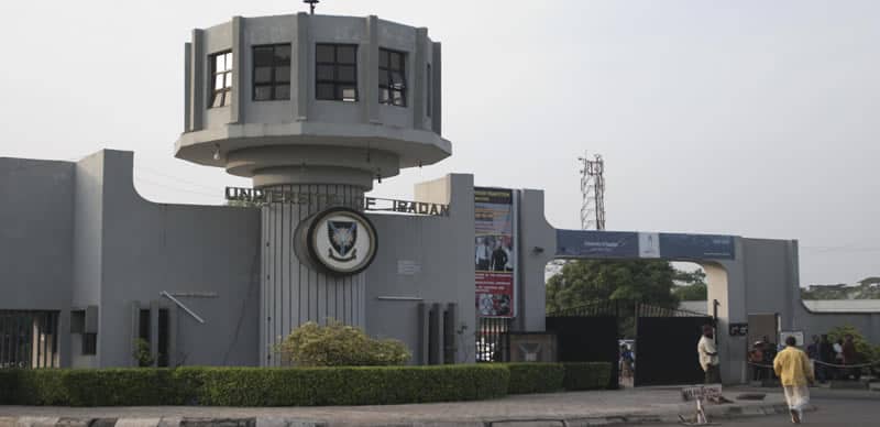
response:
[[[474,401],[507,394],[504,365],[179,368],[0,372],[0,404],[310,406]]]

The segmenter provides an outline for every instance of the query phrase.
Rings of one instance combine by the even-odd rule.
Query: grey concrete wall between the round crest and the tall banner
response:
[[[473,176],[450,175],[446,183],[417,187],[420,201],[449,202],[449,217],[413,217],[371,214],[378,233],[378,252],[366,271],[366,331],[371,336],[403,340],[414,352],[419,348],[417,306],[458,305],[459,362],[473,362],[476,328]],[[443,187],[448,188],[444,189]],[[449,194],[443,200],[442,195]],[[398,263],[417,266],[415,273]]]

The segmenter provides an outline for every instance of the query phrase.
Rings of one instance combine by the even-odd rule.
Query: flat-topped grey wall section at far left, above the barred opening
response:
[[[70,362],[74,176],[69,162],[0,157],[0,309],[58,310]]]

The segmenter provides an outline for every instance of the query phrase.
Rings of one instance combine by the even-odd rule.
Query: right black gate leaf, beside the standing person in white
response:
[[[703,383],[696,353],[703,325],[714,325],[713,318],[701,313],[638,305],[634,384]]]

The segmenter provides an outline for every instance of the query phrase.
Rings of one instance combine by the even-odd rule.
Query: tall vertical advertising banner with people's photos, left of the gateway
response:
[[[514,317],[516,305],[516,201],[514,191],[474,188],[476,313]]]

